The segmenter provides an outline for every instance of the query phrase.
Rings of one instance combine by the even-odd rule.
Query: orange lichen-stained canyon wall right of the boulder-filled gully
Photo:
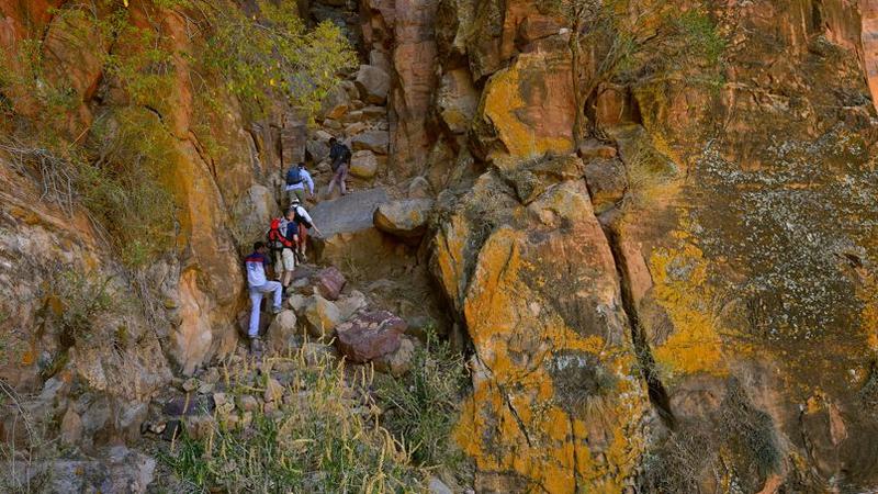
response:
[[[431,266],[474,352],[480,491],[878,482],[874,9],[702,7],[718,82],[607,86],[578,148],[570,30],[544,9],[443,0],[402,52],[437,56],[394,60],[393,91],[435,87]]]

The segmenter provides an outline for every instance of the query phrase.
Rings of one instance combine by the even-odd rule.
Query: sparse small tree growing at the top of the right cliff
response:
[[[667,0],[550,0],[549,12],[570,30],[577,141],[587,131],[585,105],[604,83],[680,70],[686,63],[716,67],[725,47],[706,12],[680,12]]]

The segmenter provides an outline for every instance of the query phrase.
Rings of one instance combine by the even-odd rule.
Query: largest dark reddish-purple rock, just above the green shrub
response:
[[[396,351],[407,327],[387,311],[371,311],[336,327],[336,345],[350,361],[365,363]]]

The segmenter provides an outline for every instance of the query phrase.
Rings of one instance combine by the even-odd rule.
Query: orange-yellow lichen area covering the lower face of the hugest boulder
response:
[[[533,491],[619,492],[644,448],[648,405],[635,359],[601,336],[579,335],[549,308],[539,277],[521,278],[539,272],[527,242],[525,232],[503,227],[479,255],[463,307],[479,359],[455,438],[479,471],[525,479]],[[584,398],[560,392],[550,359],[570,352],[594,356],[614,375],[612,389]]]

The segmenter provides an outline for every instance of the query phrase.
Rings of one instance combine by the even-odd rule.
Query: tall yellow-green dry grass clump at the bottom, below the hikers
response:
[[[307,348],[307,347],[303,347]],[[249,425],[216,425],[206,437],[183,437],[165,460],[189,492],[419,492],[424,472],[405,446],[379,425],[368,400],[370,371],[350,379],[344,362],[307,355],[266,358],[226,369],[230,395],[261,394],[266,370],[282,369],[285,397],[275,409],[261,406]],[[347,378],[346,378],[347,374]],[[353,381],[353,382],[351,382]]]

